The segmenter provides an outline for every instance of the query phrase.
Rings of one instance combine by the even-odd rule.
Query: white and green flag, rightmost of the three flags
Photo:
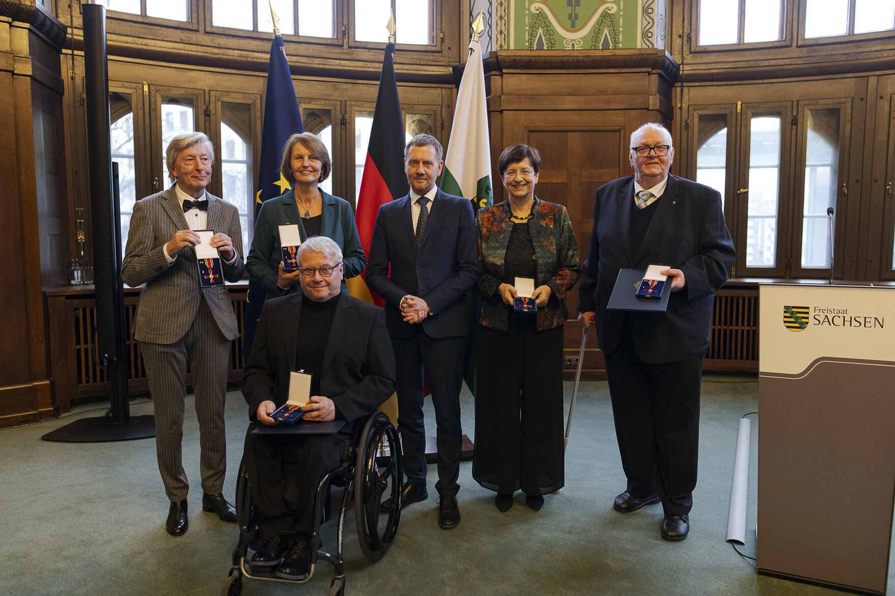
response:
[[[472,52],[456,92],[454,124],[447,142],[441,190],[472,200],[473,209],[478,211],[492,203],[490,136],[482,47],[473,40],[469,49]]]

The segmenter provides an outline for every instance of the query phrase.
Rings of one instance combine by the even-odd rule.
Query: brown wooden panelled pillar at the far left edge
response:
[[[0,6],[4,14],[9,8]],[[0,125],[7,135],[0,149],[0,166],[7,175],[0,201],[0,250],[8,256],[0,426],[51,414],[41,287],[44,277],[66,270],[69,255],[67,243],[60,242],[67,235],[67,219],[55,217],[67,211],[58,155],[64,141],[59,60],[64,27],[42,6],[18,8],[20,17],[33,23],[0,22]]]

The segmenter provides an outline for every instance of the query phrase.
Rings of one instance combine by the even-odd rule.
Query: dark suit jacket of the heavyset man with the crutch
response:
[[[681,362],[708,349],[714,293],[730,275],[737,253],[724,223],[720,193],[669,175],[639,249],[629,241],[634,176],[597,189],[593,230],[581,277],[579,311],[594,311],[603,352],[618,346],[627,314],[637,354],[644,362]],[[669,298],[668,311],[608,311],[621,268],[662,264],[684,272],[686,285]],[[633,290],[632,290],[633,291]]]

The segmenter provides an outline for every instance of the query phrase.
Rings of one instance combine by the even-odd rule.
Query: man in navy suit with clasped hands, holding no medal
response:
[[[437,427],[439,526],[460,523],[460,387],[467,333],[466,291],[478,276],[473,205],[441,192],[435,179],[444,162],[439,141],[418,134],[404,151],[410,193],[379,208],[367,284],[385,300],[386,325],[395,350],[398,428],[407,481],[401,507],[429,498],[422,373],[432,393]],[[387,501],[383,507],[391,507]]]

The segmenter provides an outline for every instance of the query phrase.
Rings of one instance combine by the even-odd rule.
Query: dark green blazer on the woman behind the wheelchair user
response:
[[[320,234],[331,238],[342,249],[345,279],[359,276],[367,265],[367,257],[361,248],[361,238],[357,235],[354,211],[345,199],[339,199],[323,191],[320,191],[320,195],[323,197]],[[255,221],[251,250],[245,261],[249,277],[267,288],[268,299],[298,291],[298,284],[293,285],[287,292],[281,292],[277,287],[277,270],[280,261],[283,260],[277,226],[286,224],[298,224],[302,242],[307,239],[308,234],[304,231],[302,216],[298,212],[298,206],[295,205],[295,196],[291,190],[275,199],[266,200],[261,205],[258,219]],[[348,291],[345,279],[342,280],[343,292]]]

